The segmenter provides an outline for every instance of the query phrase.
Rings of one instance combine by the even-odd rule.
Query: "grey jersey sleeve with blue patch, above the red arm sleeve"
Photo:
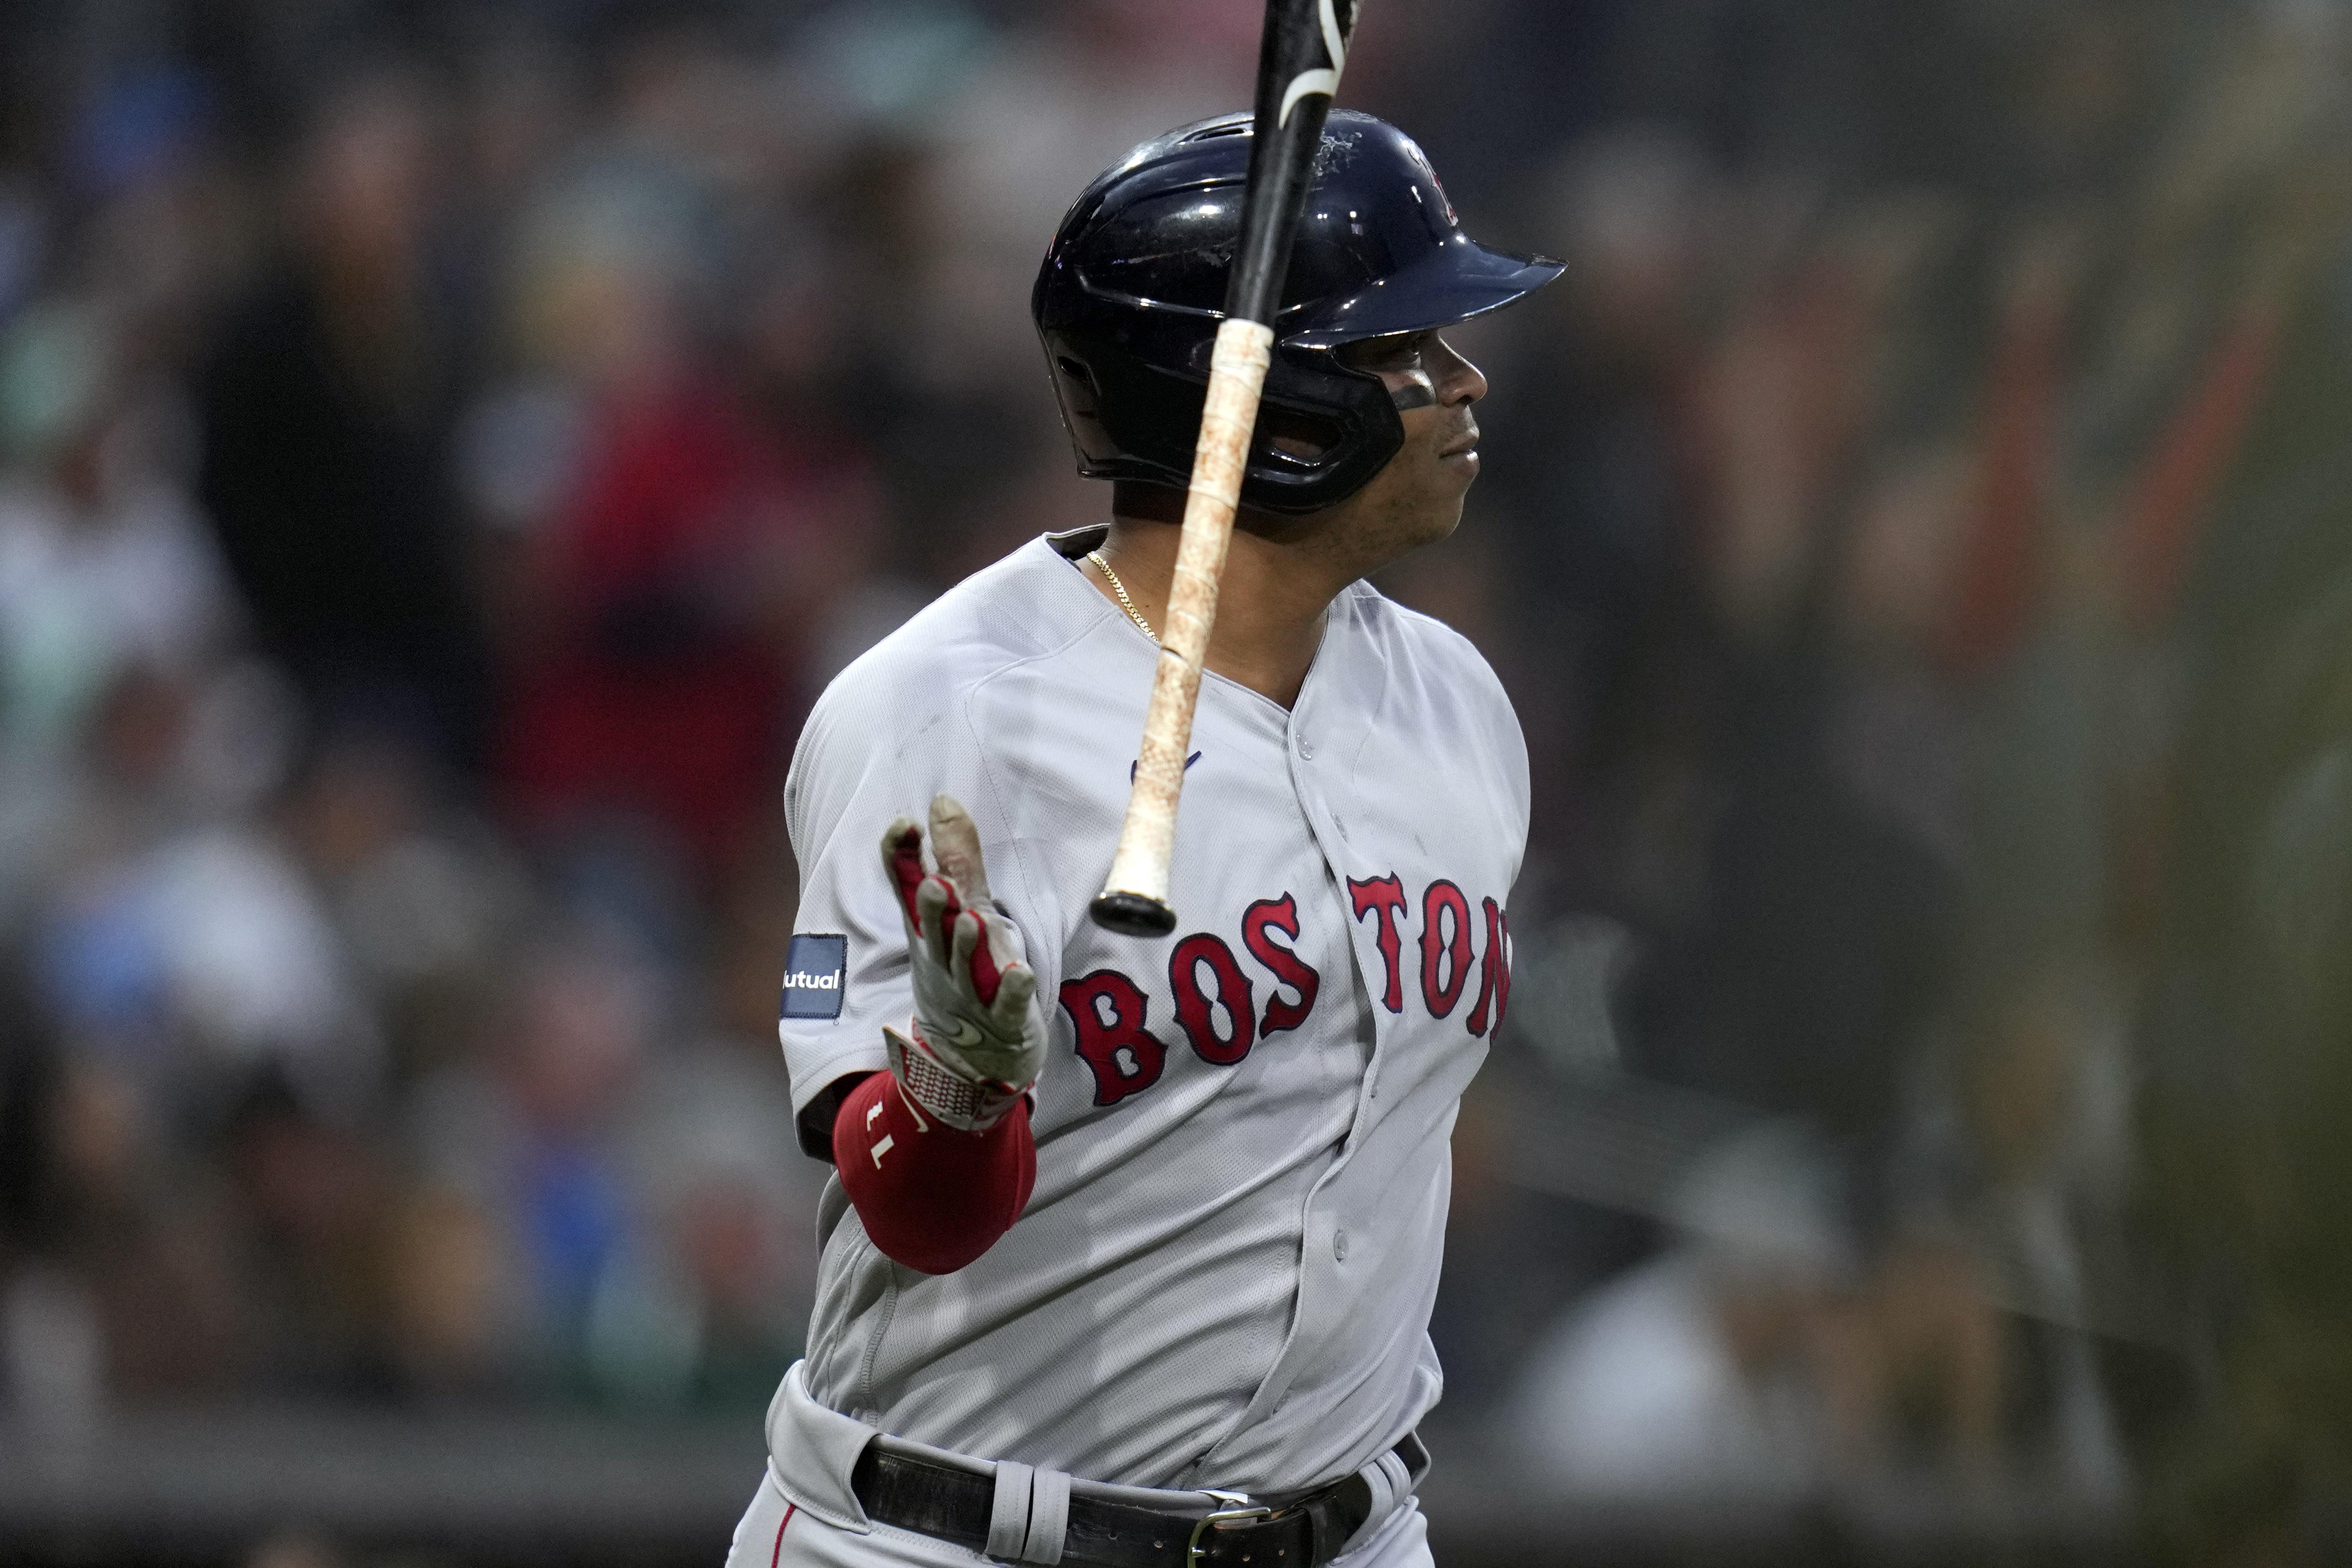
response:
[[[800,863],[800,910],[786,954],[776,1034],[793,1079],[800,1147],[833,1157],[833,1112],[856,1074],[882,1072],[882,1025],[915,1009],[906,926],[882,870],[882,830],[924,820],[934,795],[964,802],[981,827],[990,893],[1021,931],[1040,983],[1049,929],[1025,898],[1014,825],[974,743],[964,693],[908,670],[849,672],[816,705],[786,780],[786,827]]]

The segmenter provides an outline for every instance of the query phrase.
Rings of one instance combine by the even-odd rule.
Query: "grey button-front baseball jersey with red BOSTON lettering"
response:
[[[906,1025],[880,842],[941,790],[1051,1025],[1037,1187],[978,1262],[894,1265],[828,1182],[809,1394],[1096,1481],[1317,1486],[1437,1401],[1449,1138],[1508,1001],[1526,748],[1461,635],[1357,583],[1294,710],[1202,682],[1176,936],[1101,931],[1157,649],[1075,569],[1098,541],[943,595],[833,682],[793,759],[795,1112]]]

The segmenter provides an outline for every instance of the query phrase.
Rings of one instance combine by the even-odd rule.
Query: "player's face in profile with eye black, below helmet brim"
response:
[[[1376,374],[1404,423],[1397,456],[1336,508],[1348,515],[1350,543],[1395,559],[1461,524],[1463,494],[1477,480],[1470,404],[1486,395],[1486,376],[1435,331],[1348,343],[1341,360]]]

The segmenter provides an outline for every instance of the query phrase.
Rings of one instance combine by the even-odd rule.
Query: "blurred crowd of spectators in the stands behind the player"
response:
[[[1030,277],[1258,19],[0,9],[12,1453],[708,1418],[750,1493],[800,717],[1105,512]],[[2338,0],[1367,5],[1345,101],[1571,261],[1383,581],[1536,783],[1439,1455],[2352,1549],[2347,63]]]

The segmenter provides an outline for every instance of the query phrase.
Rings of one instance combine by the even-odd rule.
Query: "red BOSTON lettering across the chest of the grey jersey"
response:
[[[1348,879],[1348,893],[1357,919],[1376,919],[1374,945],[1385,966],[1381,1006],[1390,1013],[1404,1011],[1404,922],[1409,900],[1404,882],[1397,877]],[[1421,1004],[1430,1018],[1451,1018],[1470,987],[1470,969],[1477,966],[1477,1001],[1463,1018],[1463,1030],[1484,1037],[1503,1027],[1503,1009],[1510,1004],[1510,926],[1503,905],[1494,898],[1479,900],[1484,912],[1484,943],[1477,943],[1470,914],[1470,898],[1439,877],[1421,896]],[[1279,940],[1277,940],[1279,938]],[[1251,971],[1235,957],[1232,945],[1211,933],[1195,931],[1176,943],[1169,954],[1169,994],[1176,999],[1176,1030],[1192,1056],[1214,1065],[1232,1067],[1261,1039],[1301,1027],[1315,1011],[1322,992],[1322,976],[1298,957],[1298,900],[1289,893],[1261,898],[1242,912],[1242,947],[1272,985],[1258,1009],[1258,990]],[[1472,952],[1477,947],[1477,952]],[[1117,969],[1065,980],[1061,1006],[1077,1030],[1077,1056],[1094,1070],[1094,1103],[1117,1105],[1143,1093],[1160,1081],[1167,1067],[1169,1046],[1150,1030],[1150,994]],[[1223,1013],[1223,1025],[1218,1025]]]

